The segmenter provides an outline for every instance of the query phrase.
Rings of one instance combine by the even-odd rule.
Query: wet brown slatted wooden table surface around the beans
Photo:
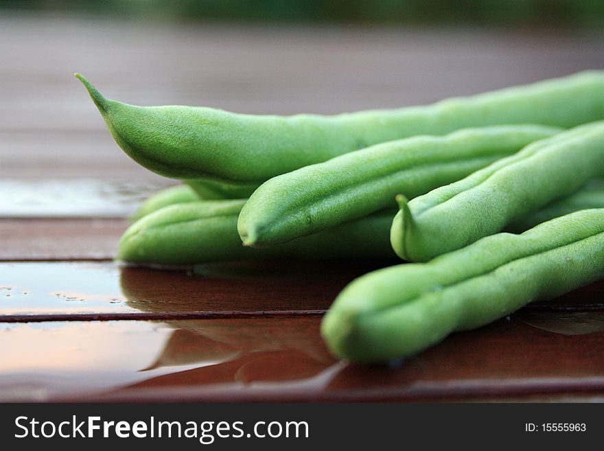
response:
[[[601,68],[603,38],[0,17],[0,401],[601,400],[604,284],[363,367],[329,355],[321,315],[396,262],[113,262],[174,181],[117,148],[72,73],[132,104],[336,113]]]

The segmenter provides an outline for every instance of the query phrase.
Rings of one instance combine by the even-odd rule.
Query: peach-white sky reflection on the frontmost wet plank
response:
[[[110,321],[0,324],[0,399],[112,389],[175,371],[149,367],[174,329]],[[16,327],[15,327],[16,326]],[[178,371],[217,362],[179,366]]]

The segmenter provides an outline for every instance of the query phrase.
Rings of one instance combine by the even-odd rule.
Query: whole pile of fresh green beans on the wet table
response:
[[[338,295],[321,333],[340,358],[411,356],[604,277],[604,71],[288,117],[128,105],[76,76],[126,154],[184,183],[141,205],[117,259],[414,262]]]

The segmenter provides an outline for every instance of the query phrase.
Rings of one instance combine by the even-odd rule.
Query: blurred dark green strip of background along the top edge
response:
[[[161,21],[600,27],[604,0],[0,0],[12,12]]]

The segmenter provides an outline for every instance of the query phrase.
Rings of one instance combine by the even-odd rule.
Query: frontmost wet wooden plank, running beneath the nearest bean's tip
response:
[[[602,397],[603,332],[512,316],[396,367],[329,356],[320,319],[0,325],[0,401],[433,401]]]

